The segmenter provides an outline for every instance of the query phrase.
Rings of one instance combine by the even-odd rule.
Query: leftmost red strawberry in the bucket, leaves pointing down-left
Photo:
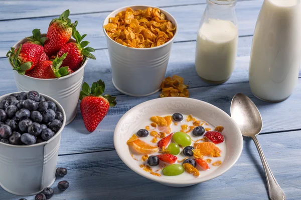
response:
[[[7,53],[10,62],[20,74],[33,69],[39,63],[40,57],[44,52],[41,45],[33,43],[20,44],[18,49],[11,48]]]

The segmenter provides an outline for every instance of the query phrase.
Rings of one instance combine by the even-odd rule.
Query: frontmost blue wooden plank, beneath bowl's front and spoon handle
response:
[[[301,131],[259,135],[258,139],[286,199],[299,200]],[[213,180],[183,188],[164,186],[136,174],[122,163],[115,151],[59,156],[58,166],[68,168],[68,174],[59,180],[68,180],[70,187],[55,194],[51,198],[54,200],[268,199],[263,168],[250,139],[244,140],[241,157],[229,171]],[[55,181],[53,187],[59,180]],[[58,192],[57,188],[55,192]],[[0,198],[18,200],[20,197],[0,189]]]

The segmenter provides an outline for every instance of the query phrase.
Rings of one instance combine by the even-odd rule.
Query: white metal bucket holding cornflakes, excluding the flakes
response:
[[[133,10],[154,7],[149,5],[130,5],[112,11],[103,21],[109,22],[109,17],[131,7]],[[171,48],[178,34],[176,19],[164,9],[160,10],[176,25],[176,32],[171,40],[163,45],[152,48],[127,47],[111,39],[106,30],[103,32],[107,38],[110,63],[112,68],[112,81],[120,92],[130,96],[147,96],[160,90],[165,77]]]

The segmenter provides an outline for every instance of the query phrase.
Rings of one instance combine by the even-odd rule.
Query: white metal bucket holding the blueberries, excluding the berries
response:
[[[0,96],[0,100],[9,95],[10,93]],[[48,141],[33,145],[0,142],[0,185],[13,194],[34,195],[55,181],[61,132],[66,123],[66,114],[58,101],[45,94],[40,95],[57,104],[57,110],[62,112],[64,120],[59,131]]]

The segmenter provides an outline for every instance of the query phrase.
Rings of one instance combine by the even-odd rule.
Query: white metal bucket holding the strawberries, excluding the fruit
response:
[[[42,35],[46,36],[46,34]],[[18,48],[20,44],[25,43],[27,40],[27,38],[21,39],[13,47]],[[69,41],[75,42],[75,40],[72,38]],[[77,104],[87,61],[88,58],[74,73],[60,78],[34,78],[28,75],[20,75],[14,70],[17,89],[19,91],[36,90],[40,93],[44,93],[55,98],[65,109],[67,125],[75,118],[77,113]],[[11,64],[10,60],[9,63]]]

